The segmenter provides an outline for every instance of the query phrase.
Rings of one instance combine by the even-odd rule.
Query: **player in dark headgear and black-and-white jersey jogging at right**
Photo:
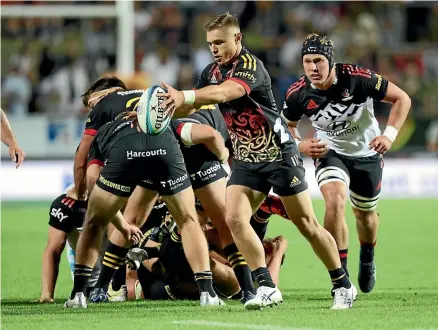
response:
[[[390,150],[411,106],[409,96],[381,75],[357,65],[335,63],[333,42],[310,34],[301,51],[304,75],[286,93],[283,116],[298,149],[315,162],[324,196],[324,227],[335,238],[347,271],[347,189],[360,240],[359,287],[368,293],[376,282],[374,246],[382,186],[383,154]],[[392,103],[383,134],[373,101]],[[298,123],[307,116],[315,138],[301,140]]]

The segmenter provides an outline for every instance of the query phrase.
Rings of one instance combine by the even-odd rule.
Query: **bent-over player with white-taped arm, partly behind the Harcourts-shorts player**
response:
[[[255,295],[251,271],[238,251],[225,217],[227,172],[231,141],[217,105],[208,105],[187,118],[172,121],[190,175],[195,196],[219,233],[221,249],[242,288],[242,302]]]

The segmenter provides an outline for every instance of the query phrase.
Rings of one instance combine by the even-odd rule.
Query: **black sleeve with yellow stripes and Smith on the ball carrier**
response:
[[[246,90],[246,94],[249,94],[253,89],[264,84],[265,71],[259,60],[246,53],[240,55],[229,79],[242,85]]]

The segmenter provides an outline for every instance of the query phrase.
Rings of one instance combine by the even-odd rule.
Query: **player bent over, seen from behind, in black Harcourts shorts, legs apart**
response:
[[[119,118],[107,125],[105,132],[99,132],[98,138],[105,164],[89,197],[84,230],[78,242],[74,287],[65,307],[87,307],[84,292],[103,230],[137,185],[143,189],[142,201],[147,209],[152,209],[160,194],[175,218],[195,274],[201,306],[222,305],[212,286],[207,242],[197,220],[193,190],[172,130],[168,128],[158,136],[139,134],[131,128],[129,120]],[[114,224],[125,241],[141,234],[138,228],[126,226],[124,221]]]

